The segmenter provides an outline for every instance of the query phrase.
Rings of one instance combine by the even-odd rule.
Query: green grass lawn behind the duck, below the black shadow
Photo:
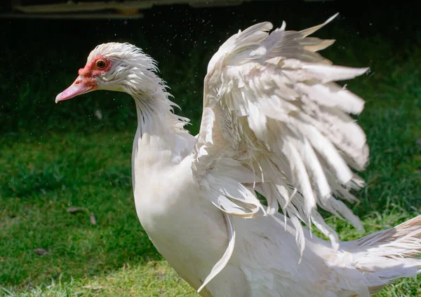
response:
[[[201,46],[185,46],[182,59],[176,50],[150,48],[182,115],[192,118],[193,132],[206,63],[218,39],[236,29],[192,36]],[[341,240],[390,228],[421,212],[421,146],[416,142],[421,139],[421,50],[396,48],[381,36],[349,39],[349,30],[332,26],[319,34],[338,39],[323,53],[336,64],[371,67],[370,74],[347,82],[367,102],[359,123],[370,145],[370,166],[361,174],[368,186],[353,206],[366,233],[330,216],[327,221]],[[420,34],[414,39],[419,43]],[[136,43],[151,40],[145,36]],[[3,57],[12,62],[2,64],[0,72],[0,78],[10,73],[0,90],[13,98],[0,106],[0,296],[196,296],[158,254],[135,213],[131,99],[93,92],[53,104],[55,94],[76,75],[72,63],[82,66],[88,53],[74,51],[73,68],[63,67],[58,51],[47,48],[49,64],[36,61],[31,75],[19,76],[14,69],[25,66],[25,60],[13,60],[10,48]],[[37,53],[36,46],[33,50]],[[53,75],[44,76],[46,69]],[[98,109],[102,120],[94,116]],[[84,210],[70,214],[68,207]],[[36,254],[39,248],[47,254]],[[380,296],[421,296],[420,288],[421,277],[401,279]]]

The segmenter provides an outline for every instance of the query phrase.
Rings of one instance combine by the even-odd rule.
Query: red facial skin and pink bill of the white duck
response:
[[[105,62],[104,68],[98,67],[98,61],[100,60]],[[105,74],[111,67],[112,62],[107,57],[103,55],[93,57],[91,62],[88,62],[83,69],[79,69],[79,76],[74,83],[55,97],[55,103],[96,90],[98,88],[96,77]]]

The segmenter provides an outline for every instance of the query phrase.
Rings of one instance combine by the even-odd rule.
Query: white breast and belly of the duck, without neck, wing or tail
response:
[[[198,289],[227,248],[227,222],[220,209],[200,197],[192,156],[173,163],[167,154],[158,162],[145,160],[150,156],[145,151],[156,148],[133,149],[138,218],[159,253]],[[305,230],[306,249],[300,255],[295,229],[284,222],[282,214],[276,220],[234,217],[232,257],[201,296],[369,296],[366,279],[347,250],[335,251]]]

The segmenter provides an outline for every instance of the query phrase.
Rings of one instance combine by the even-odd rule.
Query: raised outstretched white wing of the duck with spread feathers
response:
[[[350,167],[366,167],[366,135],[349,114],[359,114],[364,102],[335,81],[368,69],[333,65],[316,53],[333,40],[307,37],[335,16],[300,32],[285,31],[283,23],[269,34],[272,24],[263,22],[220,47],[208,65],[192,165],[203,196],[229,215],[281,207],[302,249],[300,221],[314,223],[338,247],[317,205],[362,228],[336,198],[354,202],[350,189],[363,186]]]

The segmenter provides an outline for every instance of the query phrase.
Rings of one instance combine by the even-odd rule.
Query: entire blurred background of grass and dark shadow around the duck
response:
[[[421,210],[421,26],[403,1],[3,1],[0,4],[0,296],[195,296],[149,242],[131,190],[135,106],[91,92],[55,104],[109,41],[158,62],[177,113],[199,130],[210,57],[239,29],[270,21],[300,30],[340,15],[314,36],[321,54],[370,67],[347,81],[366,99],[368,186],[353,210],[366,233]],[[334,217],[342,240],[359,233]],[[182,232],[182,230],[180,230]],[[421,277],[380,296],[421,296]]]

